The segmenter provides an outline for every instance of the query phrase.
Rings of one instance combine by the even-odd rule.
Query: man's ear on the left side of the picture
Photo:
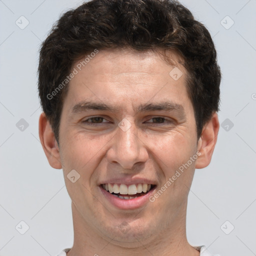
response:
[[[62,165],[57,141],[44,112],[39,117],[39,138],[50,166],[55,169],[61,169]]]

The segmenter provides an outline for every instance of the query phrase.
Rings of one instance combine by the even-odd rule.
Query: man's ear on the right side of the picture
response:
[[[213,149],[217,141],[218,129],[218,116],[217,113],[214,113],[211,119],[202,128],[202,133],[197,145],[197,151],[200,151],[201,154],[198,155],[196,159],[195,168],[204,168],[210,163]]]

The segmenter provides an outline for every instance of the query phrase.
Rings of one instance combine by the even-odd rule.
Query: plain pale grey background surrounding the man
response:
[[[38,138],[36,68],[39,44],[53,22],[81,2],[0,0],[0,255],[54,256],[72,246],[62,170],[48,165]],[[209,29],[223,76],[223,127],[211,164],[195,171],[188,241],[220,255],[255,255],[256,1],[181,2]],[[21,15],[29,21],[24,29],[15,24]],[[28,123],[23,130],[21,118]],[[21,220],[29,226],[24,234]]]

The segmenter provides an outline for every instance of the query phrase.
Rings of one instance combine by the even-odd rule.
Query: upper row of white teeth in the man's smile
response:
[[[120,193],[120,194],[136,194],[141,192],[146,192],[151,188],[151,184],[132,184],[132,185],[125,185],[125,184],[102,184],[102,187],[109,191],[109,193]]]

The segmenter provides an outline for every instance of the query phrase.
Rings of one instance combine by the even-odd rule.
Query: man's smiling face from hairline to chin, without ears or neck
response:
[[[102,50],[81,70],[79,62],[59,129],[73,210],[85,226],[115,241],[153,239],[183,225],[196,161],[188,160],[197,151],[185,69],[177,66],[183,75],[176,80],[169,75],[173,67],[149,51]],[[80,175],[74,183],[67,178],[73,169]]]

